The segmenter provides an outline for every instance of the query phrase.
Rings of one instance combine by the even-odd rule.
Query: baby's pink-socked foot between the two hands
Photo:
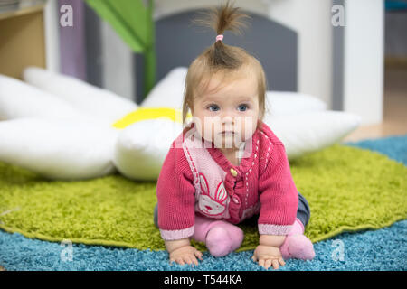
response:
[[[243,231],[229,222],[195,215],[192,238],[204,242],[212,256],[226,256],[241,247]]]

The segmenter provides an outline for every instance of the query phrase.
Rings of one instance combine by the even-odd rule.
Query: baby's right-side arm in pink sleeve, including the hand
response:
[[[284,265],[279,247],[294,223],[298,208],[298,191],[289,170],[289,161],[283,144],[271,145],[270,157],[260,174],[259,246],[253,260],[266,269]]]

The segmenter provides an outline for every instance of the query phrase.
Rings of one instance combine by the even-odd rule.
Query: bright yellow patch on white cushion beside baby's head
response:
[[[166,117],[177,123],[183,123],[183,113],[181,109],[171,107],[139,107],[136,111],[130,112],[127,116],[119,119],[112,126],[125,128],[138,121]],[[186,118],[192,117],[191,113],[186,114]]]

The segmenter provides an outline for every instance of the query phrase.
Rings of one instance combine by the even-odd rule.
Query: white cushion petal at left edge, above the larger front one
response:
[[[81,119],[85,116],[50,93],[0,75],[0,120],[19,117]]]

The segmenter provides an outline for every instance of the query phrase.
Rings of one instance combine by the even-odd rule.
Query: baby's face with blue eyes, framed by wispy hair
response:
[[[253,74],[221,83],[213,77],[208,88],[194,100],[192,110],[197,132],[220,148],[239,148],[253,135],[259,118],[257,81]],[[221,89],[216,89],[221,84]]]

